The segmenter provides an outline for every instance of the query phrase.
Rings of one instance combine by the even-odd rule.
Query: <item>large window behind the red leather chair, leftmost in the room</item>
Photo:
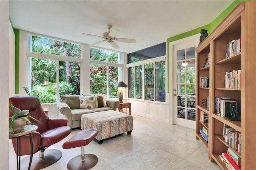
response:
[[[80,94],[81,45],[28,35],[30,95],[41,103],[55,103],[60,96]]]

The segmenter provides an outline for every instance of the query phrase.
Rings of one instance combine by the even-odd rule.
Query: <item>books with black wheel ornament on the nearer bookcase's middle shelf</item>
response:
[[[232,121],[240,121],[238,116],[238,104],[235,99],[228,97],[215,97],[215,113]],[[235,115],[236,114],[236,115]]]

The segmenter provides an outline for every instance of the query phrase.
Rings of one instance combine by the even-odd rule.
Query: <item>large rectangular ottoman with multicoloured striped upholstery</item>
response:
[[[99,133],[95,137],[99,144],[104,139],[127,132],[132,133],[133,119],[132,115],[114,110],[98,111],[87,113],[81,117],[81,129],[98,129]]]

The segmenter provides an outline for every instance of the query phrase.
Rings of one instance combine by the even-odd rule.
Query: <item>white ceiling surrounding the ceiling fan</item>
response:
[[[116,51],[131,53],[211,23],[234,0],[10,0],[16,29],[92,44],[103,39],[106,25],[120,30]],[[110,29],[111,30],[111,29]],[[96,45],[110,49],[107,42]],[[113,48],[112,48],[113,50]]]

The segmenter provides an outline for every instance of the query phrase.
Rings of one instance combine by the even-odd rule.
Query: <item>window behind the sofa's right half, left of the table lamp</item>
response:
[[[90,48],[90,92],[106,94],[108,98],[118,98],[118,88],[122,81],[122,54],[102,49]]]

